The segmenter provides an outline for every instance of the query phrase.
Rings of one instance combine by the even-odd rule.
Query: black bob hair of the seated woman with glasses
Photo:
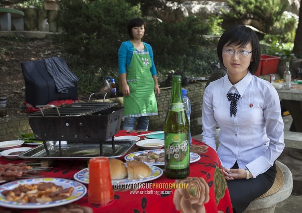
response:
[[[252,45],[252,57],[248,70],[251,74],[255,74],[258,70],[260,63],[260,44],[257,34],[249,27],[245,25],[234,25],[224,31],[222,36],[219,39],[217,45],[217,55],[220,61],[220,64],[223,65],[222,59],[222,49],[224,45],[239,45],[246,46],[248,43]]]

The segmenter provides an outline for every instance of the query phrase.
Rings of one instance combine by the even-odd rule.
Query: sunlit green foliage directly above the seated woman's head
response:
[[[288,1],[226,0],[226,4],[230,8],[230,11],[222,9],[226,23],[233,25],[242,24],[244,20],[254,20],[262,25],[263,30],[267,33],[270,32],[274,23],[281,19]]]

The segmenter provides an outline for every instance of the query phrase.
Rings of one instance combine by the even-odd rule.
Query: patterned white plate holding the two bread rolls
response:
[[[125,163],[127,166],[127,163]],[[149,177],[137,179],[137,180],[128,180],[127,178],[120,180],[111,180],[112,184],[128,184],[128,183],[143,183],[151,180],[155,180],[162,176],[163,170],[159,167],[148,165],[152,171],[152,174]],[[81,171],[74,174],[73,178],[81,183],[89,183],[89,168],[82,169]]]

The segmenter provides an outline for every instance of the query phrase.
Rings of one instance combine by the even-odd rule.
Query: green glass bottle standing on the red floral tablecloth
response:
[[[172,76],[172,93],[165,119],[165,176],[174,179],[190,173],[189,121],[181,93],[181,76]]]

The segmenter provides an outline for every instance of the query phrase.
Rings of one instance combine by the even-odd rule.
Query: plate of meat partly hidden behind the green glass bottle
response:
[[[200,159],[196,153],[190,152],[190,163],[194,163]],[[164,166],[164,149],[144,150],[133,152],[125,156],[125,160],[138,160],[148,165]]]

